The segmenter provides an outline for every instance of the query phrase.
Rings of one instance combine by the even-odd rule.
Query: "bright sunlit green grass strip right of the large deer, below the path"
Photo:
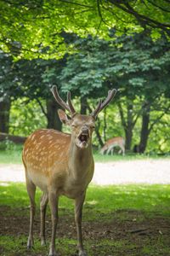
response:
[[[169,202],[170,185],[115,185],[90,186],[86,205],[100,212],[135,209],[169,215]]]

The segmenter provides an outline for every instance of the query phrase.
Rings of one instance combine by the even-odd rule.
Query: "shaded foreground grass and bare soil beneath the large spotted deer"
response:
[[[37,190],[37,206],[40,196],[41,191]],[[25,219],[27,225],[24,225],[28,226],[29,201],[25,184],[0,183],[0,198],[0,209],[6,209],[1,212],[1,217],[7,221],[6,225],[8,226],[8,222],[14,218],[14,223],[16,219],[19,220],[19,226]],[[170,222],[169,202],[170,185],[89,186],[83,209],[83,229],[86,234],[85,247],[88,255],[169,255],[169,233],[166,235],[166,227]],[[49,209],[48,219],[50,220]],[[69,235],[74,229],[73,201],[65,197],[60,198],[59,219],[61,223],[64,220],[63,224],[59,224],[59,229],[63,229],[63,233],[59,233],[57,239],[59,255],[75,255],[76,235]],[[139,236],[138,233],[131,234],[128,231],[143,228],[144,225],[151,231],[149,235]],[[1,255],[48,254],[49,237],[48,246],[41,247],[37,233],[35,247],[30,252],[26,250],[25,229],[28,228],[17,228],[16,224],[9,224],[9,231],[4,231],[0,238]]]

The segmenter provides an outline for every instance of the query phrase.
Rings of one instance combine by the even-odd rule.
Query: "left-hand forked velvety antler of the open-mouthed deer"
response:
[[[71,102],[71,92],[70,91],[67,92],[67,102],[68,102],[68,104],[65,103],[61,99],[61,97],[59,96],[59,92],[57,90],[57,86],[56,85],[54,85],[52,87],[51,91],[52,91],[52,93],[54,95],[55,101],[58,102],[61,107],[63,107],[66,110],[68,110],[71,113],[71,115],[74,115],[76,113],[76,110],[73,107],[72,102]]]

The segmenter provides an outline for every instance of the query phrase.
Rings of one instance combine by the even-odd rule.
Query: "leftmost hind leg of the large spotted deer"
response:
[[[31,248],[34,245],[33,222],[34,222],[34,216],[36,212],[36,203],[35,203],[36,185],[32,183],[28,177],[26,177],[26,189],[30,198],[30,231],[29,231],[29,236],[27,241],[27,248]]]

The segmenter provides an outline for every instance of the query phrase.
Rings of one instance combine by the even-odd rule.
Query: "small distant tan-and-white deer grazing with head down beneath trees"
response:
[[[123,137],[113,137],[110,140],[108,140],[105,145],[103,146],[103,148],[100,149],[100,153],[101,154],[109,154],[111,152],[111,154],[113,154],[113,150],[115,147],[119,147],[121,148],[121,150],[119,151],[119,153],[122,152],[122,155],[125,154],[125,140]]]

